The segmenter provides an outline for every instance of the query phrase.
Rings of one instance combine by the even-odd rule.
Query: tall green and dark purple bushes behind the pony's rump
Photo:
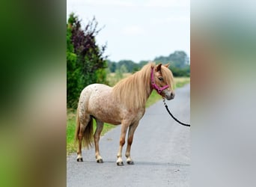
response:
[[[67,107],[76,108],[79,94],[85,86],[106,83],[106,46],[97,46],[97,21],[81,28],[81,21],[70,13],[67,21]]]

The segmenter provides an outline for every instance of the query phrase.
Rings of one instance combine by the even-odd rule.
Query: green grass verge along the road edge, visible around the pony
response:
[[[177,77],[174,78],[175,81],[175,87],[174,88],[180,88],[183,87],[183,85],[186,85],[190,82],[189,77]],[[161,96],[159,96],[156,91],[153,91],[150,95],[150,97],[147,99],[146,107],[149,107],[150,105],[153,105],[155,102],[159,101],[159,99],[162,99]],[[108,132],[110,129],[113,129],[115,126],[109,123],[104,123],[103,132],[101,135],[104,135],[106,132]],[[96,129],[96,122],[94,120],[94,131]],[[77,145],[75,144],[74,137],[76,132],[76,111],[74,110],[67,110],[67,154],[76,152]]]

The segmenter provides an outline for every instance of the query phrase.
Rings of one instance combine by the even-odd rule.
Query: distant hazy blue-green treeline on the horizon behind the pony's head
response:
[[[159,56],[153,59],[156,63],[169,64],[169,68],[174,76],[190,76],[190,64],[189,57],[186,52],[175,51],[168,56]],[[107,64],[111,73],[134,73],[141,69],[148,61],[140,61],[135,63],[134,61],[122,60],[122,61],[109,61]]]

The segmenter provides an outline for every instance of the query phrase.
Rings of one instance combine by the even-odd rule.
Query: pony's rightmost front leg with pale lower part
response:
[[[132,140],[133,140],[133,135],[135,132],[135,129],[138,126],[138,122],[133,123],[131,126],[129,126],[129,132],[128,132],[128,138],[127,138],[127,151],[125,153],[125,156],[127,157],[127,164],[128,165],[134,165],[134,162],[132,161],[131,158],[131,147],[132,147]]]

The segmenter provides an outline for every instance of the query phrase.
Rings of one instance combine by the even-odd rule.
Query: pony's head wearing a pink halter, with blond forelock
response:
[[[174,99],[174,77],[168,69],[168,64],[157,64],[156,67],[152,67],[151,85],[162,97]]]

